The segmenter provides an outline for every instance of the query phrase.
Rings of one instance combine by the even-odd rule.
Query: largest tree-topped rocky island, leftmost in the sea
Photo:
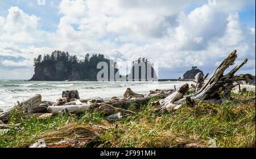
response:
[[[51,55],[39,55],[34,59],[35,74],[30,81],[97,80],[100,70],[97,69],[98,62],[110,64],[110,60],[101,54],[93,54],[92,57],[87,54],[84,60],[61,51],[54,51]]]

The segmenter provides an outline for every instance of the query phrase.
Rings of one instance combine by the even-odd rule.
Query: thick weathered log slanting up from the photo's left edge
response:
[[[42,103],[41,95],[36,94],[33,97],[30,97],[30,98],[26,99],[25,101],[20,103],[18,106],[15,106],[13,108],[10,108],[9,110],[6,110],[6,111],[2,112],[0,114],[0,120],[2,120],[3,122],[6,122],[7,120],[9,120],[12,112],[16,108],[19,108],[19,109],[23,110],[24,112],[26,112],[27,114],[30,115],[32,110],[35,109],[36,107],[38,107],[41,103]]]

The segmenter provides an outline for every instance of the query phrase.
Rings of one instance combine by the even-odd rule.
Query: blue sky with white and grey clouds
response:
[[[234,49],[255,75],[255,1],[0,0],[0,79],[28,80],[33,59],[55,50],[103,53],[122,68],[139,57],[159,78],[197,66],[212,73]],[[234,65],[235,66],[235,65]]]

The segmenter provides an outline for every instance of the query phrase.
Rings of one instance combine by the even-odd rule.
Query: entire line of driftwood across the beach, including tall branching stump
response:
[[[81,114],[85,111],[100,111],[104,112],[107,120],[117,120],[122,118],[122,115],[135,114],[135,112],[127,110],[130,104],[141,106],[143,103],[149,101],[152,97],[158,97],[161,100],[152,103],[152,106],[158,107],[156,110],[175,111],[184,102],[186,106],[194,106],[199,101],[205,102],[220,102],[222,99],[230,98],[230,92],[238,86],[238,81],[250,81],[253,77],[250,74],[235,75],[246,62],[236,66],[229,73],[224,75],[224,72],[229,66],[234,64],[237,54],[236,51],[230,53],[228,57],[218,66],[216,71],[206,80],[208,74],[198,73],[195,78],[196,85],[191,85],[189,88],[188,83],[181,86],[179,89],[171,90],[155,90],[150,91],[147,95],[134,93],[128,88],[123,95],[123,98],[113,97],[109,101],[104,101],[102,98],[80,99],[77,90],[63,91],[62,98],[57,99],[56,102],[42,101],[40,94],[28,98],[22,103],[18,102],[17,106],[3,111],[0,114],[0,129],[5,128],[18,128],[18,125],[6,125],[12,112],[15,109],[22,110],[28,116],[39,116],[39,118],[48,118],[57,114]],[[240,85],[239,85],[240,86]],[[239,87],[241,89],[241,87]],[[255,91],[255,87],[252,88]],[[185,95],[188,91],[195,92],[193,94]],[[221,92],[223,91],[222,95]],[[243,89],[245,91],[245,89]]]

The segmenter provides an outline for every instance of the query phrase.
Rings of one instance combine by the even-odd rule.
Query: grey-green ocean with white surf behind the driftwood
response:
[[[35,94],[41,94],[43,101],[56,101],[61,98],[64,90],[78,90],[81,99],[90,97],[121,97],[127,87],[135,93],[148,94],[155,89],[174,89],[182,86],[185,82],[84,82],[84,81],[24,81],[24,80],[0,80],[0,110],[13,107],[17,101]],[[192,82],[187,82],[192,83]]]

